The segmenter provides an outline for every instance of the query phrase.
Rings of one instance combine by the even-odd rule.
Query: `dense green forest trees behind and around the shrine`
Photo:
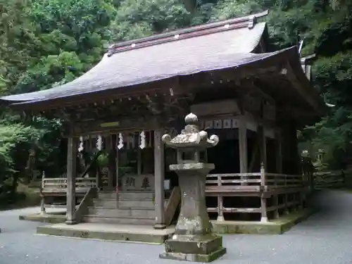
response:
[[[316,54],[313,84],[334,105],[298,132],[327,169],[342,169],[352,153],[351,0],[0,0],[0,95],[70,82],[97,62],[108,44],[270,9],[270,50],[303,40]],[[0,112],[0,203],[18,199],[33,171],[65,166],[60,120]]]

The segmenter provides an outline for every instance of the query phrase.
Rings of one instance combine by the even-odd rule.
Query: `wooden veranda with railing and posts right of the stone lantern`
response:
[[[218,206],[208,208],[208,212],[218,213],[218,221],[224,221],[224,213],[260,213],[261,222],[267,222],[268,212],[273,212],[275,218],[278,218],[282,209],[284,213],[289,213],[289,209],[296,210],[302,207],[307,184],[303,175],[267,173],[264,168],[261,168],[260,172],[253,173],[207,175],[206,196],[215,196],[218,199]],[[223,206],[225,196],[258,197],[260,207],[225,208]],[[282,196],[281,203],[279,196]],[[272,205],[267,206],[270,198],[273,199]]]

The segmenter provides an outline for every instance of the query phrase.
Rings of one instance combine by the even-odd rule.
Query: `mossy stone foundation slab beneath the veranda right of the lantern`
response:
[[[314,209],[299,210],[270,222],[211,221],[218,234],[283,234],[315,213]]]

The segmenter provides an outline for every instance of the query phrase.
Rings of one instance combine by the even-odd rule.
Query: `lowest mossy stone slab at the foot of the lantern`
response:
[[[225,248],[220,248],[217,251],[213,251],[210,254],[164,252],[159,255],[159,258],[208,263],[220,258],[221,256],[225,255],[225,253],[226,253]]]

